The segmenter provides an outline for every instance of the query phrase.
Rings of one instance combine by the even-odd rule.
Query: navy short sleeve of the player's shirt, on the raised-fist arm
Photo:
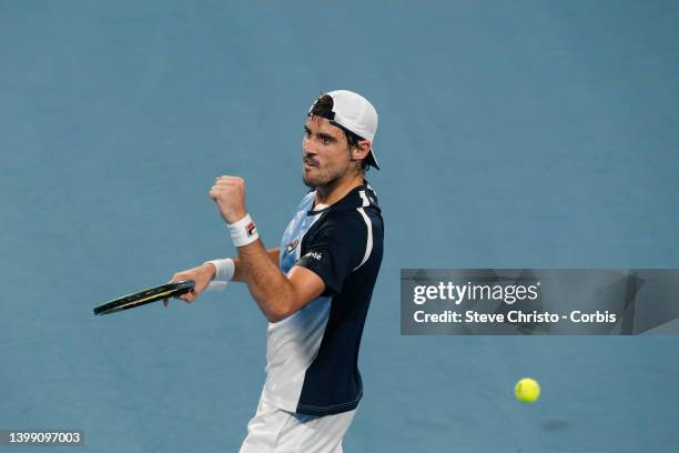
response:
[[[344,280],[363,261],[367,246],[367,224],[358,212],[332,213],[296,262],[317,274],[326,291],[337,294]]]

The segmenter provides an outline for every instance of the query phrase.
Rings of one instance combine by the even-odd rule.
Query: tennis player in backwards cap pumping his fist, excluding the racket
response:
[[[364,174],[378,169],[372,148],[377,112],[338,90],[311,107],[302,139],[297,205],[281,245],[265,250],[245,209],[245,181],[216,179],[210,197],[227,224],[237,258],[174,274],[241,281],[268,320],[266,382],[241,452],[342,452],[363,395],[358,346],[383,253],[377,197]]]

